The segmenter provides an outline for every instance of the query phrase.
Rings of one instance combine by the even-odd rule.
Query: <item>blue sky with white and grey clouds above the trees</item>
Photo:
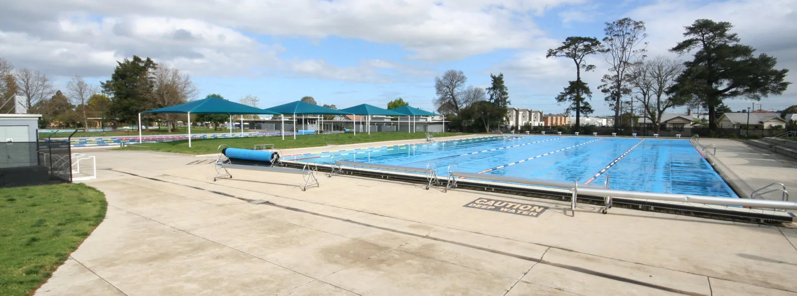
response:
[[[791,71],[795,10],[795,0],[6,1],[0,57],[64,88],[76,75],[99,84],[116,61],[148,56],[189,73],[201,94],[194,99],[256,95],[263,108],[312,95],[340,108],[387,107],[401,97],[434,111],[434,77],[446,70],[483,88],[491,73],[504,73],[513,107],[560,113],[566,106],[554,97],[575,79],[575,67],[545,53],[566,37],[601,39],[605,22],[629,17],[646,24],[647,56],[687,60],[668,51],[685,25],[729,21],[742,44]],[[587,62],[596,66],[583,75],[595,115],[613,114],[597,89],[609,66],[601,55]],[[726,103],[736,111],[753,102]],[[797,85],[759,103],[764,110],[797,104]]]

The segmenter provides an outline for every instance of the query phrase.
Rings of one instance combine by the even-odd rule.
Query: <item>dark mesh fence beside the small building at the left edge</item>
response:
[[[0,143],[0,188],[72,181],[68,141]]]

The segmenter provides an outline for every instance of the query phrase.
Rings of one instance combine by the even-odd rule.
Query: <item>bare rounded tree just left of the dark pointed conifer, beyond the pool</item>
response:
[[[458,70],[448,70],[442,77],[434,77],[434,89],[438,97],[434,99],[434,106],[438,112],[459,115],[459,112],[468,107],[470,103],[465,100],[465,82],[468,77]]]

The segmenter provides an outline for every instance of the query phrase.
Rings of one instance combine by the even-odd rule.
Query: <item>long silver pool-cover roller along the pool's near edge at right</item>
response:
[[[654,200],[654,201],[675,201],[675,202],[688,202],[694,204],[717,204],[717,205],[738,205],[749,208],[774,208],[774,209],[790,209],[797,210],[797,202],[793,201],[768,201],[768,200],[754,200],[747,198],[732,198],[732,197],[707,197],[693,194],[680,194],[680,193],[646,193],[638,191],[605,189],[600,186],[593,185],[579,185],[575,186],[574,183],[563,181],[550,181],[530,179],[524,177],[506,177],[500,175],[489,175],[485,173],[467,173],[467,172],[449,172],[453,177],[465,177],[469,179],[481,179],[491,181],[505,181],[512,183],[520,183],[524,185],[538,185],[554,187],[559,189],[567,189],[573,193],[573,197],[577,197],[579,193],[595,196],[595,197],[622,197],[638,200]]]

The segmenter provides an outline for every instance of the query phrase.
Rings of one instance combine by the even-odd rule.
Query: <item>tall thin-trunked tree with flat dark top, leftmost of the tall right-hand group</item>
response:
[[[559,103],[563,103],[565,101],[571,102],[571,105],[570,107],[567,107],[567,110],[575,111],[576,129],[578,129],[579,125],[581,124],[581,113],[584,113],[583,111],[589,111],[584,113],[587,115],[592,112],[592,107],[585,101],[585,95],[587,95],[587,92],[589,92],[589,98],[592,97],[592,92],[590,91],[590,88],[587,87],[587,84],[581,80],[581,69],[583,69],[584,72],[589,72],[595,69],[595,65],[587,64],[587,62],[584,61],[584,58],[591,54],[603,52],[605,52],[603,45],[601,45],[600,41],[598,41],[596,38],[567,37],[562,42],[562,46],[559,46],[556,49],[548,49],[548,54],[545,55],[545,57],[567,57],[568,59],[573,60],[573,63],[575,64],[575,81],[570,81],[568,83],[568,86],[564,89],[564,92],[556,96],[556,101]],[[586,92],[583,92],[584,89],[586,89]]]

